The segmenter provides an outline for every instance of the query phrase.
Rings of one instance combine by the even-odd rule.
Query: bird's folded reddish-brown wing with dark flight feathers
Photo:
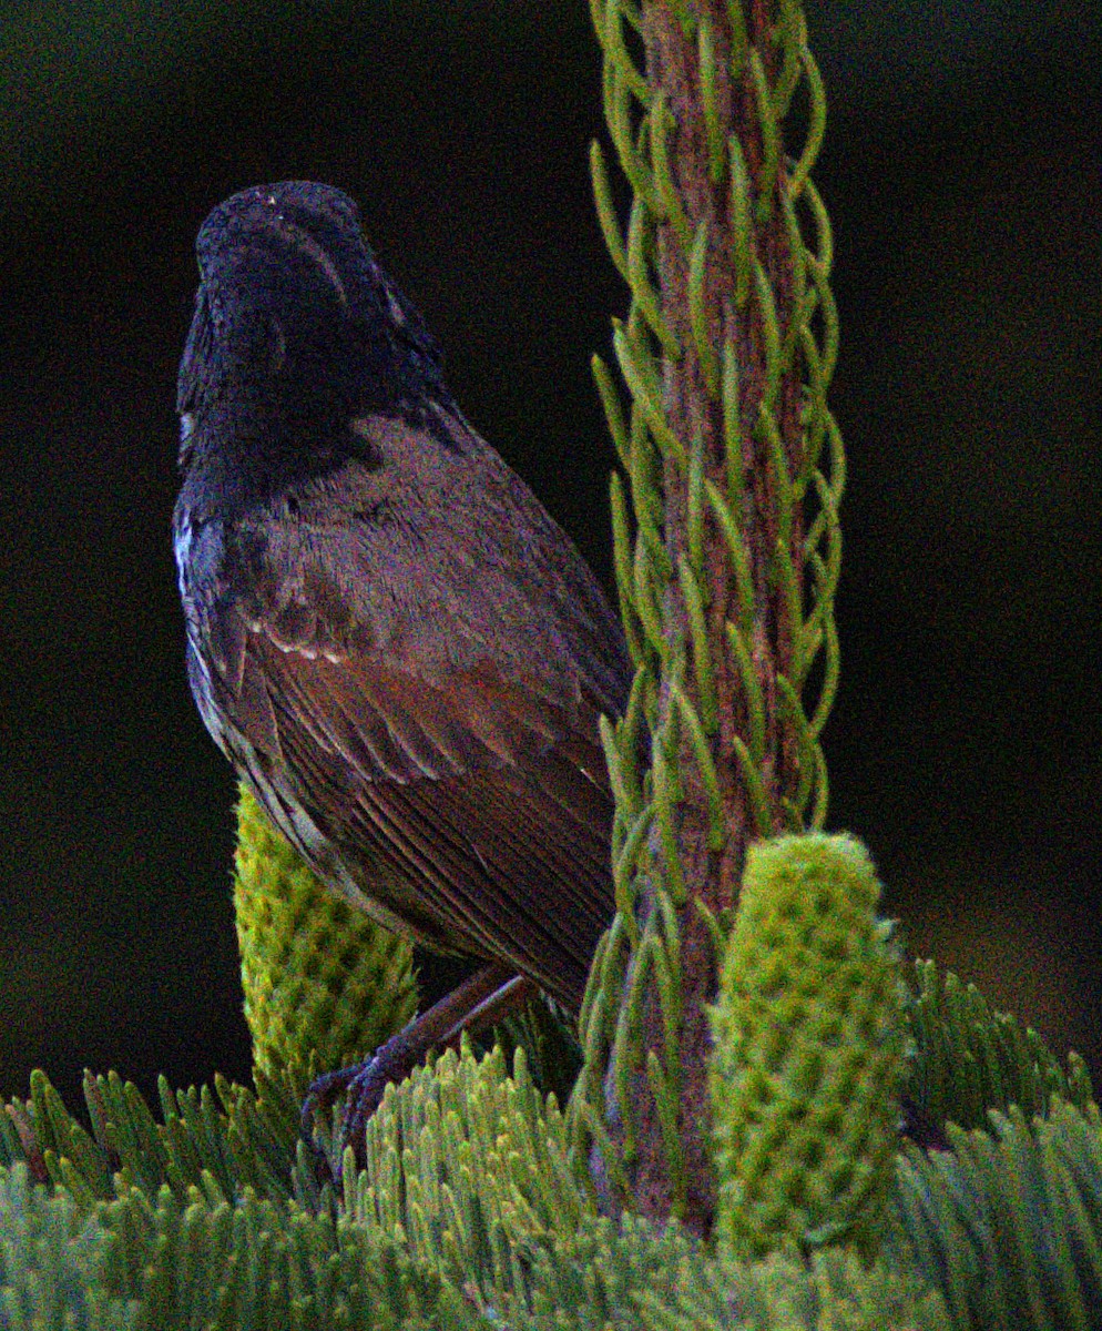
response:
[[[421,937],[507,960],[576,1009],[612,913],[584,676],[558,699],[488,662],[426,679],[337,648],[321,603],[294,624],[224,603],[206,626],[224,648],[214,705],[265,768],[258,785],[282,787],[346,864],[378,865],[375,890]],[[370,868],[357,877],[371,896]]]

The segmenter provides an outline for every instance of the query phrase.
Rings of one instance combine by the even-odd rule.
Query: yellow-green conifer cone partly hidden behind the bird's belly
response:
[[[253,1061],[343,1067],[417,1009],[413,948],[330,892],[242,785],[233,901]]]

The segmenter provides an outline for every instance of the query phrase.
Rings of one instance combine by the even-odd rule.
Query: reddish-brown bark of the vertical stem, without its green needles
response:
[[[695,252],[687,253],[672,220],[657,225],[656,272],[663,318],[673,338],[685,349],[680,359],[664,359],[663,407],[667,425],[677,438],[700,441],[705,483],[711,482],[721,494],[728,492],[723,399],[717,375],[709,371],[723,347],[733,347],[739,369],[741,442],[741,476],[736,478],[741,483],[735,486],[741,503],[736,520],[753,588],[753,604],[741,606],[727,543],[715,520],[705,516],[703,567],[695,590],[704,606],[707,655],[713,663],[709,685],[716,696],[717,725],[711,736],[711,756],[717,775],[724,839],[717,849],[713,848],[709,792],[700,764],[691,752],[689,728],[680,725],[676,765],[681,784],[675,836],[689,896],[677,912],[683,1013],[677,1069],[679,1131],[685,1157],[685,1195],[673,1197],[668,1150],[661,1138],[661,1123],[656,1122],[660,1115],[655,1101],[645,1097],[636,1106],[642,1113],[638,1113],[640,1130],[634,1169],[638,1210],[667,1215],[671,1209],[677,1209],[688,1225],[704,1233],[711,1229],[715,1210],[708,1149],[707,1009],[715,998],[719,978],[707,920],[725,914],[732,906],[747,844],[757,833],[733,743],[736,739],[745,741],[751,732],[745,689],[737,662],[724,650],[727,623],[737,622],[747,611],[752,626],[751,658],[767,721],[759,771],[772,831],[784,825],[780,797],[792,788],[797,769],[796,739],[792,725],[784,721],[777,689],[777,675],[791,675],[797,626],[791,620],[791,600],[777,586],[776,552],[783,544],[793,554],[803,542],[799,512],[792,514],[791,507],[777,502],[777,490],[801,470],[803,437],[795,358],[787,367],[771,363],[780,357],[780,346],[793,321],[792,256],[781,202],[784,162],[776,142],[776,124],[764,126],[761,116],[763,97],[768,100],[769,85],[776,77],[771,9],[773,7],[763,0],[747,5],[744,27],[751,59],[744,61],[741,75],[732,77],[727,0],[700,0],[693,9],[695,32],[669,4],[647,0],[643,5],[647,77],[652,92],[661,93],[669,110],[669,170],[696,241]],[[713,55],[704,71],[701,49]],[[755,71],[760,71],[757,79]],[[707,106],[701,73],[707,75]],[[728,173],[713,169],[716,125],[733,133],[741,148],[756,220],[751,264],[757,281],[751,286],[749,298],[741,303],[736,293],[737,265],[733,261],[737,218],[732,217]],[[772,141],[767,140],[767,129],[775,136]],[[725,141],[727,134],[723,134],[724,146]],[[779,450],[775,447],[777,438]],[[667,548],[677,566],[689,554],[689,475],[673,458],[667,458],[663,467],[661,488]],[[799,554],[793,563],[796,570],[801,570]],[[685,591],[685,580],[671,580],[663,606],[667,636],[683,643],[691,640],[693,630]],[[799,583],[796,596],[801,598]],[[696,715],[703,716],[704,680],[699,655],[688,652],[696,668],[685,668],[681,687]],[[659,689],[660,713],[668,708],[669,691],[671,679],[664,675]],[[657,909],[659,890],[655,877],[642,885],[636,906],[640,917]],[[705,910],[699,909],[697,901]],[[648,1051],[660,1049],[665,1022],[657,993],[648,996],[643,1004],[642,1025],[643,1047]]]

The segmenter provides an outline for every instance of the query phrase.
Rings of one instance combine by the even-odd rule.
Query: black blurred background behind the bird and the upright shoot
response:
[[[1102,19],[811,4],[849,455],[832,827],[913,949],[1102,1069]],[[0,8],[0,1093],[244,1078],[230,772],[168,538],[208,209],[354,194],[467,415],[607,578],[583,0]]]

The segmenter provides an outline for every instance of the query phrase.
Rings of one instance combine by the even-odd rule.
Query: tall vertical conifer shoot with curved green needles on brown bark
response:
[[[616,917],[570,1113],[608,1205],[707,1233],[721,921],[749,841],[826,816],[845,458],[826,402],[833,245],[809,176],[825,102],[797,0],[591,11],[631,194],[624,228],[595,142],[598,214],[631,290],[612,337],[627,401],[594,370],[623,469],[614,563],[636,679],[602,732]]]

